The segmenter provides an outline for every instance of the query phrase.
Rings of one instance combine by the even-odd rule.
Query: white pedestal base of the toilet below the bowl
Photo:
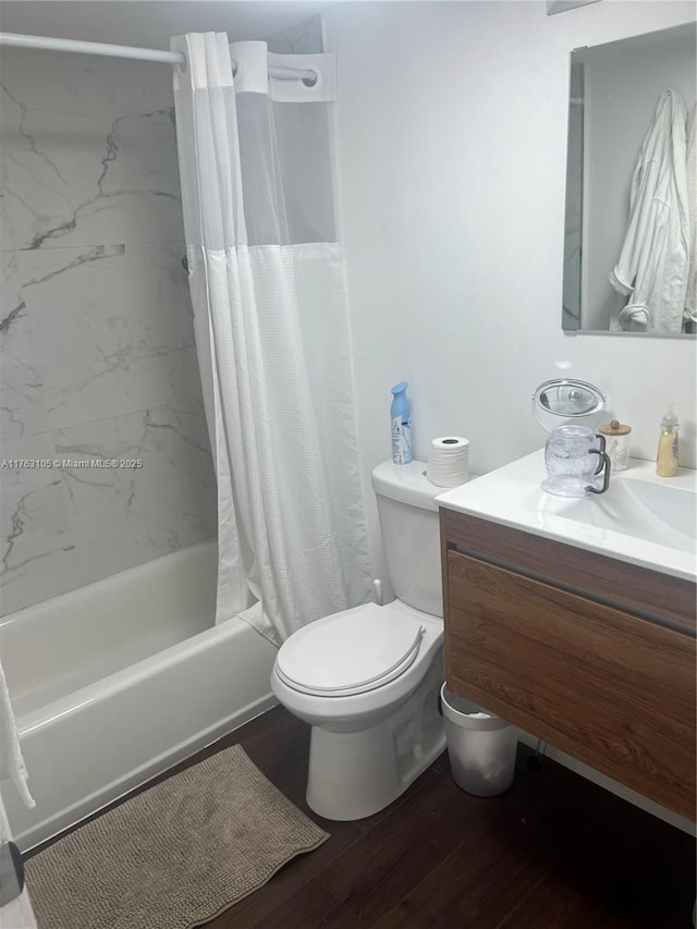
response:
[[[395,800],[445,749],[438,712],[442,656],[412,696],[358,732],[313,726],[307,803],[325,819],[364,819]]]

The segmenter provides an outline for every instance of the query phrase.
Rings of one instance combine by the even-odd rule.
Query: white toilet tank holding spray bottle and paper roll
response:
[[[379,464],[372,489],[395,597],[416,610],[443,615],[440,524],[436,497],[443,492],[426,477],[424,462]]]

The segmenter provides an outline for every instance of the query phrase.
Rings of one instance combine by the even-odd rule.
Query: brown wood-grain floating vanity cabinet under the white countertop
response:
[[[695,584],[440,511],[448,687],[695,819]]]

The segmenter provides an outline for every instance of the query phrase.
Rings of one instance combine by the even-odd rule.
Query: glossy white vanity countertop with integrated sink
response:
[[[607,493],[584,498],[546,493],[540,489],[545,477],[545,450],[540,449],[441,493],[436,503],[663,574],[696,579],[697,472],[680,468],[675,477],[661,478],[653,462],[632,459],[626,470],[611,473]],[[664,523],[656,509],[637,502],[628,490],[638,482],[649,494],[682,491],[672,502],[674,511],[677,504],[682,531]]]

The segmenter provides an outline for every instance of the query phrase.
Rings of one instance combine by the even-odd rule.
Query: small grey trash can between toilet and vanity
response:
[[[517,729],[444,684],[440,697],[450,768],[457,786],[478,797],[508,791],[515,772]]]

